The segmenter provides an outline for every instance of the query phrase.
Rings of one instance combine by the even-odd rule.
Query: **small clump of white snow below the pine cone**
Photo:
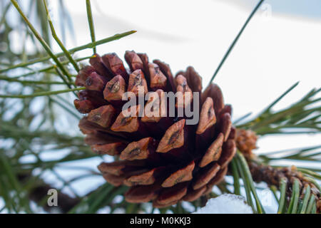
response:
[[[205,207],[201,207],[193,214],[253,214],[253,210],[245,203],[244,197],[224,194],[209,199]]]

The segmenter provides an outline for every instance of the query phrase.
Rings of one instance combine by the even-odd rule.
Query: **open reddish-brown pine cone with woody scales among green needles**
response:
[[[125,195],[128,202],[153,201],[153,207],[168,207],[207,194],[223,180],[235,155],[231,106],[224,105],[215,84],[202,93],[202,78],[193,67],[173,77],[168,64],[149,63],[145,53],[126,51],[125,59],[130,71],[116,53],[96,54],[91,66],[82,68],[76,78],[77,86],[86,87],[74,101],[80,113],[88,114],[79,123],[86,143],[100,155],[115,156],[115,162],[102,162],[98,169],[112,185],[130,187]],[[161,98],[164,92],[179,91],[183,98],[192,95],[175,100],[173,117],[162,115],[168,114],[162,99],[153,106],[153,113],[161,115],[148,115],[148,104],[157,100],[152,95],[125,115],[122,96],[126,91],[141,96],[138,87],[143,95],[153,91]],[[198,92],[199,98],[192,92]],[[200,118],[188,125],[191,118],[186,113],[179,117],[177,110],[194,104]]]

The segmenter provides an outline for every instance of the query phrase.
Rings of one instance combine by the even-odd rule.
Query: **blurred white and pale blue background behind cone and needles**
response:
[[[46,14],[41,11],[41,7],[44,7],[41,2],[24,0],[19,1],[19,4],[34,26],[51,44],[52,50],[58,53],[60,48],[51,38],[47,22],[43,20]],[[50,0],[48,4],[56,32],[67,48],[91,42],[86,1]],[[205,87],[255,4],[257,1],[254,0],[92,0],[96,40],[124,31],[138,31],[121,40],[98,46],[97,53],[103,55],[116,52],[118,56],[123,56],[126,50],[148,53],[150,59],[159,58],[169,63],[173,73],[184,70],[187,66],[193,66],[203,77],[203,87]],[[26,25],[21,21],[16,9],[9,6],[9,1],[1,0],[0,11],[1,68],[45,55],[39,43],[32,38]],[[253,115],[259,113],[297,81],[300,81],[299,86],[281,100],[275,109],[284,108],[302,98],[302,95],[312,88],[320,87],[320,28],[321,1],[319,0],[267,0],[260,6],[214,80],[223,90],[225,103],[233,105],[234,120],[250,112]],[[91,54],[92,50],[87,49],[77,52],[74,57]],[[87,61],[83,63],[86,64]],[[19,68],[7,74],[19,76],[28,72],[28,68]],[[35,77],[44,76],[36,73],[29,78]],[[55,85],[51,88],[61,87]],[[21,91],[28,93],[33,89],[23,87],[19,83],[9,85],[0,81],[1,93]],[[60,97],[71,104],[75,98],[72,93]],[[21,142],[16,138],[6,137],[9,133],[3,130],[4,125],[0,125],[0,130],[3,128],[0,138],[1,150],[9,157],[10,155],[15,157],[20,152],[16,165],[39,164],[39,160],[50,163],[52,160],[66,158],[71,151],[77,152],[81,146],[72,147],[70,144],[81,144],[82,135],[78,130],[78,119],[61,108],[61,105],[46,98],[34,98],[29,102],[26,104],[16,99],[6,99],[6,104],[1,105],[1,121],[6,124],[14,123],[10,128],[16,128],[20,133],[24,128],[31,131],[46,131],[51,128],[57,134],[74,138],[68,142],[50,141],[48,145],[45,145],[45,142],[34,143],[34,139]],[[24,111],[21,113],[21,110]],[[16,113],[20,113],[19,117]],[[30,121],[21,118],[25,120],[29,118]],[[13,133],[10,131],[10,134]],[[258,140],[257,152],[320,145],[320,142],[320,134],[268,135]],[[24,143],[29,143],[29,148],[26,149]],[[64,147],[64,143],[69,145]],[[85,146],[81,149],[89,151]],[[83,152],[82,158],[86,159],[66,160],[52,167],[31,165],[30,169],[33,175],[41,177],[46,183],[62,189],[62,192],[68,195],[86,195],[104,183],[103,177],[96,174],[98,171],[96,166],[102,159],[109,159],[93,157],[88,155],[88,151]],[[282,162],[282,165],[294,164],[287,160],[277,162]],[[320,162],[305,162],[304,165],[320,168]],[[70,180],[80,176],[81,178],[69,183]],[[118,197],[114,200],[120,203],[123,199]],[[4,200],[0,198],[0,209],[2,207]],[[31,207],[35,212],[44,212],[36,204]],[[101,212],[110,210],[105,208]],[[270,212],[274,211],[271,205]],[[1,212],[8,211],[4,209]]]

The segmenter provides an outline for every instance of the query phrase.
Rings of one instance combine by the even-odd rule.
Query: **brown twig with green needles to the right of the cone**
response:
[[[282,95],[268,105],[258,117],[252,120],[246,120],[249,115],[245,115],[245,117],[240,118],[237,122],[241,124],[237,125],[237,128],[252,130],[258,135],[271,133],[288,134],[289,132],[283,131],[283,129],[287,128],[307,128],[306,131],[302,132],[320,133],[319,119],[321,107],[317,104],[319,104],[321,98],[315,98],[320,92],[320,89],[311,90],[302,99],[290,105],[289,108],[278,111],[272,110],[275,104],[296,86],[297,83],[287,89],[285,93],[282,93]],[[314,106],[310,108],[312,104],[314,104]],[[295,133],[302,132],[297,131]],[[271,167],[267,164],[272,160],[282,159],[320,161],[317,156],[321,153],[312,152],[317,148],[320,148],[320,146],[268,152],[258,157],[252,155],[251,152],[250,154],[248,152],[245,153],[248,158],[248,165],[253,180],[255,180],[255,182],[266,182],[267,185],[272,188],[279,188],[280,199],[277,200],[279,204],[278,213],[311,213],[320,210],[320,208],[317,209],[317,202],[320,201],[320,186],[314,179],[320,177],[320,175],[317,172],[313,172],[312,169],[290,170],[287,167]],[[248,183],[245,182],[245,190],[247,188],[246,185],[248,185]],[[310,188],[307,188],[308,185]],[[311,195],[313,195],[313,201],[309,201],[309,209],[305,209],[305,207],[308,207],[307,200],[311,200],[311,197],[308,199],[308,196],[301,196],[303,192],[305,192],[305,195],[307,194],[307,189],[311,192]],[[305,198],[305,201],[302,200],[303,198]]]

